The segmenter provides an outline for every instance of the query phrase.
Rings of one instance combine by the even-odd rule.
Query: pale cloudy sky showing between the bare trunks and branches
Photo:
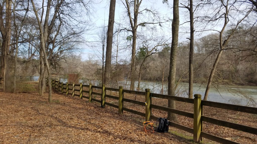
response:
[[[123,0],[124,1],[124,0]],[[97,33],[99,33],[103,27],[107,27],[108,25],[108,14],[109,14],[109,2],[108,1],[96,1],[98,4],[94,5],[94,11],[93,11],[93,17],[91,17],[91,21],[94,23],[94,30],[91,31],[90,35],[86,35],[86,39],[88,41],[96,41]],[[169,0],[169,5],[163,4],[162,0],[143,0],[141,7],[142,8],[148,8],[148,9],[154,9],[156,10],[160,16],[165,16],[167,18],[172,19],[172,0]],[[187,2],[180,1],[180,3],[186,4]],[[238,3],[240,4],[240,3]],[[219,4],[218,4],[219,5]],[[181,4],[180,4],[181,6]],[[212,8],[212,7],[211,7]],[[211,15],[212,12],[216,13],[216,9],[208,9],[208,8],[203,8],[201,11],[197,11],[197,13],[194,14],[194,17],[197,15]],[[241,9],[244,9],[244,5],[240,7]],[[221,12],[222,14],[223,12]],[[240,17],[242,17],[240,14],[237,13],[230,13],[232,19],[230,19],[230,23],[233,21],[233,19],[238,20]],[[180,8],[179,9],[179,16],[180,16],[180,25],[179,27],[179,43],[183,43],[188,41],[187,38],[190,37],[189,32],[190,32],[190,25],[189,23],[185,23],[189,21],[189,12],[186,8]],[[126,21],[125,21],[126,20]],[[139,19],[139,22],[145,22],[145,19]],[[115,23],[123,23],[123,24],[129,24],[128,22],[128,17],[127,17],[127,12],[126,8],[123,5],[121,0],[116,0],[116,7],[115,7]],[[229,23],[229,25],[230,25]],[[213,30],[221,30],[222,26],[224,24],[224,20],[219,20],[216,23],[209,24],[205,26],[206,29],[213,29]],[[197,27],[199,25],[199,27]],[[116,25],[117,26],[117,25]],[[124,26],[125,27],[125,26]],[[200,23],[195,24],[195,29],[196,31],[201,29],[203,26],[200,25]],[[229,26],[227,26],[229,28]],[[114,31],[117,29],[117,27],[114,26]],[[159,30],[159,33],[161,35],[165,35],[167,38],[171,37],[171,22],[168,22],[166,24],[163,24],[163,27],[161,28],[162,30]],[[106,28],[107,30],[107,28]],[[212,33],[217,33],[217,31],[205,31],[205,32],[198,32],[195,33],[195,39],[198,39],[202,36],[212,34]],[[147,33],[146,33],[147,34]],[[106,43],[106,42],[105,42]],[[89,45],[82,45],[83,51],[80,54],[83,60],[88,59],[89,56],[92,55],[99,55],[102,51],[102,47],[99,46],[97,50],[92,49]],[[98,46],[96,46],[98,47]],[[130,57],[130,54],[126,54],[127,57]],[[98,57],[99,59],[99,57]]]

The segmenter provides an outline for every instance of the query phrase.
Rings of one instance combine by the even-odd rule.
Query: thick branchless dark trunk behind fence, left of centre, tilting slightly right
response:
[[[104,72],[104,84],[106,85],[106,87],[110,85],[111,71],[112,71],[111,61],[112,61],[112,41],[113,41],[115,4],[116,4],[116,0],[110,1],[108,30],[107,30],[107,44],[106,44],[106,54],[105,54],[105,72]]]

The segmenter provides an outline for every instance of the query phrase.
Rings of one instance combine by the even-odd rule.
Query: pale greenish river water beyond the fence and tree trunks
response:
[[[124,83],[125,82],[125,83]],[[123,85],[126,84],[126,81]],[[138,82],[135,82],[137,86]],[[140,91],[150,88],[153,93],[161,93],[161,82],[142,81],[140,83]],[[127,86],[126,89],[129,89]],[[193,94],[201,94],[202,99],[206,90],[206,84],[194,83]],[[163,94],[168,94],[168,84],[163,85]],[[180,83],[176,92],[176,96],[188,97],[188,83]],[[208,101],[222,102],[226,104],[243,105],[257,107],[257,86],[212,86],[207,98]]]

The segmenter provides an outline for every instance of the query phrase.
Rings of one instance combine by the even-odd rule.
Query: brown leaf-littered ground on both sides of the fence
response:
[[[0,91],[0,143],[194,143],[191,133],[169,127],[168,133],[145,133],[144,117],[106,106],[88,99],[53,93],[53,103],[48,94],[40,97],[36,86],[22,85],[24,93]],[[95,91],[95,90],[94,90]],[[115,96],[116,93],[110,93]],[[100,96],[99,96],[100,97]],[[94,98],[99,99],[94,95]],[[134,95],[124,95],[134,99]],[[144,101],[144,96],[136,100]],[[117,100],[106,99],[117,105]],[[167,100],[152,99],[153,104],[167,106]],[[193,105],[177,102],[177,109],[193,112]],[[124,107],[144,112],[144,107],[124,102]],[[152,114],[166,117],[167,112],[152,109]],[[205,107],[203,115],[256,127],[257,115]],[[192,128],[192,119],[178,115],[179,123]],[[203,131],[239,143],[254,144],[256,135],[203,122]],[[217,143],[203,138],[201,143]]]

